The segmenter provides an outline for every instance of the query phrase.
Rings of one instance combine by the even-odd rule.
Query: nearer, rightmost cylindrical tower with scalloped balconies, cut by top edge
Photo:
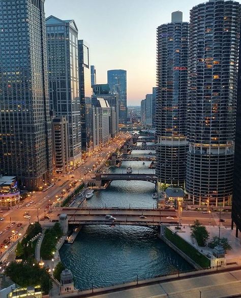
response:
[[[193,204],[230,201],[240,4],[209,0],[190,12],[186,190]]]

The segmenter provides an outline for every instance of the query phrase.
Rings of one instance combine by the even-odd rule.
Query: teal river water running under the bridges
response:
[[[148,144],[148,143],[147,143]],[[141,146],[141,143],[138,144]],[[131,156],[148,155],[133,150]],[[154,173],[150,162],[124,161],[109,173]],[[156,207],[152,198],[155,185],[145,181],[113,181],[106,190],[95,191],[83,206],[89,207]],[[157,230],[138,226],[84,226],[72,245],[60,250],[65,266],[74,274],[78,289],[104,287],[193,269],[183,258],[163,243]]]

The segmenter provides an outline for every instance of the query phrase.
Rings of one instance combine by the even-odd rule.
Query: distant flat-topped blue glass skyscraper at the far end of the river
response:
[[[127,122],[127,71],[110,70],[107,72],[111,93],[118,93],[119,123]]]

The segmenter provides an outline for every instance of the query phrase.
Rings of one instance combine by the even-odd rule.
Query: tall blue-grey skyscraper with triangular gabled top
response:
[[[81,161],[78,28],[74,20],[46,19],[50,110],[67,116],[70,165]]]

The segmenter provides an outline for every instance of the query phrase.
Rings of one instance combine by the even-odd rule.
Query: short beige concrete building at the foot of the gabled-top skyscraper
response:
[[[54,170],[57,175],[68,172],[68,120],[65,116],[52,119],[52,142],[54,156]]]

